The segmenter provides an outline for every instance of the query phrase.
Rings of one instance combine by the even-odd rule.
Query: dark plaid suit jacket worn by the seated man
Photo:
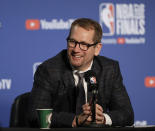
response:
[[[134,113],[118,62],[97,56],[92,70],[98,80],[98,104],[110,116],[112,125],[132,125]],[[53,108],[52,126],[71,127],[75,116],[75,89],[66,50],[42,63],[35,73],[31,92],[28,113],[31,126],[38,126],[35,109]]]

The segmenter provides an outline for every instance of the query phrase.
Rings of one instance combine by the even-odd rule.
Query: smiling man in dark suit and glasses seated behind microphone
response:
[[[98,56],[102,44],[101,26],[94,20],[75,20],[67,38],[67,50],[41,64],[34,77],[29,105],[31,126],[37,125],[37,108],[52,108],[51,127],[77,127],[92,121],[87,82],[78,73],[92,70],[98,81],[96,124],[129,126],[133,109],[123,85],[117,61]],[[77,113],[77,85],[82,79],[85,102]],[[79,93],[80,95],[80,93]]]

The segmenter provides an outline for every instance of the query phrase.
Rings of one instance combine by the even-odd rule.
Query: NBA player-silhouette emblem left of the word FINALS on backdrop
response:
[[[114,5],[111,3],[101,3],[99,10],[103,36],[114,35]]]

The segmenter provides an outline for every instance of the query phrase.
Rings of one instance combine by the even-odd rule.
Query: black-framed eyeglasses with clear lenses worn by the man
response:
[[[79,47],[81,50],[83,51],[87,51],[89,49],[89,47],[91,46],[95,46],[98,44],[98,42],[94,43],[94,44],[88,44],[88,43],[85,43],[85,42],[78,42],[74,39],[70,39],[70,38],[67,38],[67,43],[68,43],[68,47],[71,47],[71,48],[75,48],[77,44],[79,44]]]

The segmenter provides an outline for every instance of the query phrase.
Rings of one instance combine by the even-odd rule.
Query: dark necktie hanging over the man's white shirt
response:
[[[82,113],[82,105],[85,104],[85,91],[83,87],[83,73],[76,73],[79,77],[79,81],[76,88],[76,115]]]

